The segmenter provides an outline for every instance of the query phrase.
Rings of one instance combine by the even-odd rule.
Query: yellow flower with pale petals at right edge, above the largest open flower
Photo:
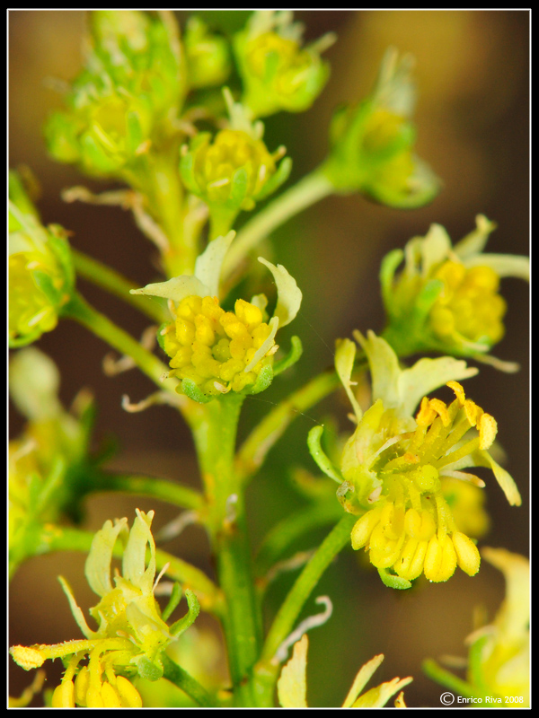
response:
[[[512,365],[485,356],[504,335],[506,302],[499,279],[529,281],[529,260],[482,250],[496,224],[478,215],[476,229],[452,246],[446,230],[432,224],[382,263],[380,278],[387,313],[384,337],[399,355],[423,351],[473,356],[495,366]],[[404,259],[402,272],[395,271]]]

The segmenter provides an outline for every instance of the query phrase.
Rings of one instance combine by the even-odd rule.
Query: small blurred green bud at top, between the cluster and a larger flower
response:
[[[210,34],[204,22],[191,17],[183,43],[190,87],[215,87],[225,83],[232,67],[225,38]]]

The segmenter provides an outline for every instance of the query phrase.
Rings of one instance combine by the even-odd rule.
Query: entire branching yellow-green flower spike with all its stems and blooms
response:
[[[473,576],[481,565],[477,541],[490,520],[485,482],[469,469],[490,469],[508,503],[521,503],[515,481],[496,458],[497,421],[460,383],[478,371],[466,360],[517,368],[490,350],[504,333],[499,280],[527,279],[528,262],[483,251],[495,229],[483,215],[455,246],[443,227],[432,224],[424,238],[390,251],[380,271],[383,331],[357,330],[356,342],[338,339],[334,368],[282,399],[236,450],[244,399],[269,390],[302,354],[299,337],[292,337],[287,353],[277,343],[303,298],[285,267],[259,257],[277,287],[275,302],[264,293],[241,295],[244,285],[242,293],[231,294],[252,269],[252,250],[288,217],[333,193],[360,192],[385,206],[414,208],[440,189],[414,151],[412,59],[390,49],[370,95],[335,114],[328,157],[276,194],[291,160],[282,146],[270,152],[261,118],[309,109],[330,74],[322,53],[333,35],[310,44],[302,38],[301,24],[287,11],[253,12],[232,35],[193,15],[183,37],[169,12],[89,13],[84,67],[63,109],[46,123],[49,153],[87,176],[125,186],[101,196],[74,188],[66,198],[130,209],[158,250],[160,281],[137,288],[72,250],[68,232],[44,226],[21,176],[10,174],[10,346],[31,344],[58,321],[82,324],[155,382],[155,395],[139,405],[124,400],[124,407],[166,403],[178,409],[202,478],[197,491],[158,477],[114,474],[106,452],[93,449],[93,399],[82,393],[66,410],[57,398],[55,364],[34,347],[13,356],[10,388],[28,423],[10,444],[10,572],[31,556],[75,547],[88,554],[86,578],[99,597],[90,626],[60,577],[84,637],[11,649],[25,670],[63,661],[61,682],[45,694],[51,707],[151,707],[151,684],[161,679],[180,687],[194,705],[269,707],[277,697],[283,707],[306,707],[305,632],[328,620],[331,609],[298,619],[343,547],[364,549],[391,589],[409,589],[421,575],[446,582],[457,566]],[[252,218],[238,229],[243,213]],[[93,309],[78,292],[77,276],[157,320],[159,349],[154,353]],[[439,356],[403,363],[424,353]],[[369,401],[356,389],[367,370]],[[443,398],[431,396],[445,386]],[[296,413],[342,389],[354,429],[337,442],[318,425],[305,437],[324,477],[302,469],[305,507],[270,532],[255,564],[245,486]],[[85,532],[84,501],[96,491],[144,495],[187,510],[189,522],[208,532],[216,581],[156,548],[153,511],[137,510],[130,530],[124,518],[106,521],[93,537]],[[334,524],[331,532],[314,551],[277,560],[294,538],[327,524]],[[458,683],[434,661],[425,670],[466,696],[488,690],[528,700],[528,615],[517,596],[526,591],[527,564],[503,549],[482,554],[506,575],[507,602],[492,626],[473,635],[466,681]],[[116,556],[122,570],[111,577]],[[296,582],[264,631],[265,587],[297,567]],[[165,576],[174,583],[162,608],[156,589]],[[187,613],[171,621],[182,596]],[[321,600],[331,607],[327,597]],[[203,635],[190,628],[200,610],[223,626],[225,682],[204,665],[196,677],[182,665],[178,646],[186,631],[203,655]],[[395,695],[395,705],[405,705],[402,688],[410,677],[365,690],[383,659],[378,655],[359,670],[343,707],[381,707]],[[37,690],[38,683],[13,705]]]

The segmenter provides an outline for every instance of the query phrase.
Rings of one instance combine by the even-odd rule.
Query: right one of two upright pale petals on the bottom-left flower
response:
[[[155,541],[150,530],[154,512],[141,512],[129,531],[122,560],[122,575],[143,593],[153,590],[155,579]],[[150,561],[146,569],[146,544],[150,545]]]

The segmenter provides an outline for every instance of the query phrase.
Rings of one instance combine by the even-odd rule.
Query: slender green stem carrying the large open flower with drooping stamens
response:
[[[273,690],[278,678],[278,661],[272,661],[272,659],[278,652],[279,646],[292,632],[297,617],[305,606],[306,600],[313,592],[314,587],[320,581],[324,571],[331,564],[333,558],[349,542],[350,531],[357,520],[357,516],[345,513],[339,523],[324,538],[323,543],[318,547],[308,564],[305,565],[304,570],[299,574],[289,591],[285,602],[278,610],[278,614],[271,625],[270,633],[266,638],[261,653],[261,661],[255,668],[256,690],[261,701],[263,701],[261,705],[271,705]]]

